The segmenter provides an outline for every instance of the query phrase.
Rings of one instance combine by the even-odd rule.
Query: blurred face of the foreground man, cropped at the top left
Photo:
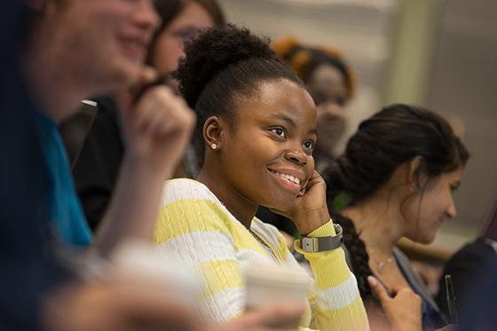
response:
[[[134,82],[159,18],[152,0],[47,2],[35,43],[92,93]]]

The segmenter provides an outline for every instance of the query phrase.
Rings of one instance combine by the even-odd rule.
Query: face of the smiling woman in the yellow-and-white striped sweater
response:
[[[314,169],[311,96],[287,80],[261,83],[236,114],[220,150],[225,185],[254,205],[291,209]]]

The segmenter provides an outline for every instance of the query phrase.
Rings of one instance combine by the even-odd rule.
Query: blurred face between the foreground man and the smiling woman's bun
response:
[[[197,35],[199,30],[213,26],[214,22],[209,12],[201,4],[195,2],[186,4],[157,38],[152,64],[161,74],[175,71],[178,59],[185,56],[185,42]]]

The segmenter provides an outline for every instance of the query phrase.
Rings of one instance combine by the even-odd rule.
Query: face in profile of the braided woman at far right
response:
[[[435,240],[440,225],[455,217],[453,193],[461,184],[462,170],[460,168],[434,178],[423,194],[419,193],[407,203],[404,209],[407,238],[429,244]]]

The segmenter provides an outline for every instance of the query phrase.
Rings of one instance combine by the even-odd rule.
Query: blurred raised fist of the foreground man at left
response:
[[[140,83],[154,82],[156,75],[144,69]],[[133,102],[121,96],[122,130],[127,156],[168,177],[181,161],[190,141],[195,116],[170,87],[155,85]]]

